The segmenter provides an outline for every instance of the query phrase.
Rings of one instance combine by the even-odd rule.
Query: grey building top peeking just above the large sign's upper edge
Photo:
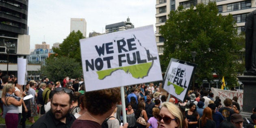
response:
[[[132,24],[132,22],[130,22],[129,17],[127,18],[126,22],[118,22],[115,24],[108,24],[105,26],[106,33],[113,33],[119,30],[126,30],[129,28],[134,28],[134,25]]]

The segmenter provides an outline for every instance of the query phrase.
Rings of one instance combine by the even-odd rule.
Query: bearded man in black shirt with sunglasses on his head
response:
[[[52,96],[51,109],[40,117],[30,128],[70,128],[76,120],[69,113],[72,104],[72,91],[56,88]]]

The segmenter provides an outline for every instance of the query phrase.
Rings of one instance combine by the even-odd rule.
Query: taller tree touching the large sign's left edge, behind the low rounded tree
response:
[[[80,30],[74,30],[67,36],[66,39],[59,45],[59,48],[53,48],[56,57],[67,56],[68,58],[76,59],[76,62],[81,63],[81,52],[79,39],[85,38]]]

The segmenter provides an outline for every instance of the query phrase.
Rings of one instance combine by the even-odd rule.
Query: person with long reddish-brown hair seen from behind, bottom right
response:
[[[203,116],[199,119],[197,123],[199,128],[216,128],[215,121],[212,117],[212,109],[209,107],[204,108]]]

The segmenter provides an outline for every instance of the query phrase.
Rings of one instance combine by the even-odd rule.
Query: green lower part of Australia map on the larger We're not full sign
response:
[[[113,69],[97,71],[97,74],[98,74],[98,79],[102,80],[106,78],[106,76],[111,76],[111,74],[117,70],[124,70],[124,72],[126,72],[127,74],[129,73],[132,74],[132,77],[134,78],[143,78],[145,76],[148,76],[148,72],[151,66],[152,66],[152,62],[141,63],[138,65],[117,67]]]

